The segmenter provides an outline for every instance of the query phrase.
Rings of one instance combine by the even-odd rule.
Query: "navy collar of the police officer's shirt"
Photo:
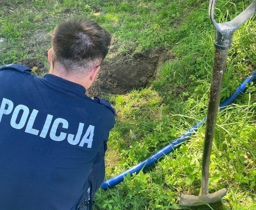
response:
[[[66,90],[71,90],[73,92],[82,94],[85,94],[86,92],[85,87],[83,87],[82,85],[65,80],[52,74],[44,75],[43,79],[57,87],[61,87]]]

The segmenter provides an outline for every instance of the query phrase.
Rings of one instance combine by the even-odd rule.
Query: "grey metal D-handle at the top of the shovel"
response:
[[[214,7],[217,0],[210,0],[209,15],[213,26],[216,28],[215,47],[220,50],[227,50],[231,45],[232,35],[239,26],[248,20],[256,11],[256,1],[253,0],[251,5],[233,20],[226,23],[216,23],[214,20]]]

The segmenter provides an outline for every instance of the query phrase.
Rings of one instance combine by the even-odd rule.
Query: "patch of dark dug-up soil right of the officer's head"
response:
[[[104,61],[92,87],[91,96],[101,93],[126,94],[133,89],[146,87],[156,76],[159,62],[171,58],[164,48],[151,49],[141,53],[122,53]]]

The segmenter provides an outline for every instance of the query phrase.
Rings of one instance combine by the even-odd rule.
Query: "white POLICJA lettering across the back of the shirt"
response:
[[[2,99],[2,103],[0,106],[0,123],[4,114],[8,115],[12,113],[11,120],[10,120],[11,127],[15,129],[22,129],[24,128],[27,122],[27,125],[25,126],[25,132],[33,135],[38,135],[40,130],[33,128],[33,126],[34,126],[34,123],[36,122],[37,114],[39,111],[36,109],[33,109],[33,111],[30,114],[29,108],[22,104],[17,105],[14,108],[14,110],[13,108],[14,108],[14,104],[11,100],[6,98]],[[30,114],[30,117],[28,118],[29,114]],[[17,122],[18,120],[19,122]],[[53,123],[52,123],[52,120],[53,120],[53,115],[47,114],[42,131],[40,132],[40,135],[39,135],[41,138],[46,138],[50,130],[49,137],[54,141],[60,142],[60,141],[63,141],[65,138],[67,138],[69,144],[77,145],[81,140],[79,144],[80,147],[83,147],[84,144],[86,143],[87,148],[92,148],[94,126],[89,125],[83,138],[81,138],[84,131],[84,123],[79,123],[77,133],[76,135],[74,135],[74,134],[67,134],[66,132],[60,132],[61,129],[68,129],[67,120],[63,118],[56,118],[53,121]],[[60,132],[60,133],[58,134],[57,132]]]

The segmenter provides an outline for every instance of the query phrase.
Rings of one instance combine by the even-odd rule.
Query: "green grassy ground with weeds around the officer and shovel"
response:
[[[230,20],[251,1],[218,1],[218,21]],[[213,65],[214,29],[204,0],[9,0],[0,10],[0,64],[41,60],[47,67],[53,27],[72,16],[96,20],[113,36],[107,59],[135,49],[165,47],[173,59],[160,63],[150,86],[109,95],[117,110],[110,133],[106,178],[149,157],[204,118]],[[235,32],[227,60],[222,101],[256,67],[256,16]],[[35,72],[37,73],[37,72]],[[37,73],[40,75],[40,73]],[[210,164],[210,192],[228,189],[213,209],[256,209],[255,86],[221,111]],[[190,142],[118,186],[96,193],[95,209],[172,209],[181,193],[200,190],[204,127]],[[209,206],[194,209],[209,209]]]

